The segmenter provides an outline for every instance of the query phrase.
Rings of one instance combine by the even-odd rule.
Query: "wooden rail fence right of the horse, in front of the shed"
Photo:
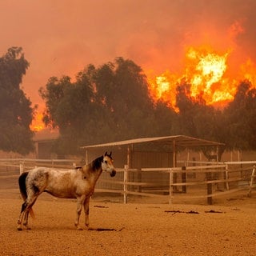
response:
[[[241,164],[242,162],[240,162]],[[242,163],[243,164],[243,163]],[[255,166],[229,169],[232,164],[218,164],[207,166],[182,166],[176,168],[142,168],[140,170],[118,169],[118,181],[104,177],[100,183],[110,183],[111,189],[104,190],[98,186],[98,192],[110,192],[123,194],[123,202],[127,203],[128,195],[147,196],[168,200],[171,204],[174,198],[206,198],[208,204],[213,204],[214,197],[234,194],[240,190],[248,190],[251,194],[255,186]],[[168,176],[168,186],[151,181],[144,182],[143,179],[129,178],[130,173],[154,173]],[[141,177],[141,175],[140,175]],[[195,177],[195,178],[191,178]],[[102,184],[101,184],[102,185]],[[193,188],[194,187],[194,191]],[[215,190],[214,190],[215,187]],[[188,190],[190,188],[190,190]],[[145,192],[146,191],[146,192]],[[194,193],[193,193],[194,192]]]

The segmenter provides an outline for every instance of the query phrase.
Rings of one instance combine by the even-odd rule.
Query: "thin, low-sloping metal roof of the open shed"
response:
[[[185,135],[175,135],[175,136],[165,136],[165,137],[154,137],[154,138],[134,138],[120,142],[109,142],[97,145],[82,146],[82,149],[92,149],[96,147],[105,147],[105,146],[124,146],[137,143],[146,143],[146,142],[163,142],[164,144],[171,144],[175,146],[182,147],[196,147],[196,146],[224,146],[225,144],[220,142],[208,141],[202,138],[194,138]]]

